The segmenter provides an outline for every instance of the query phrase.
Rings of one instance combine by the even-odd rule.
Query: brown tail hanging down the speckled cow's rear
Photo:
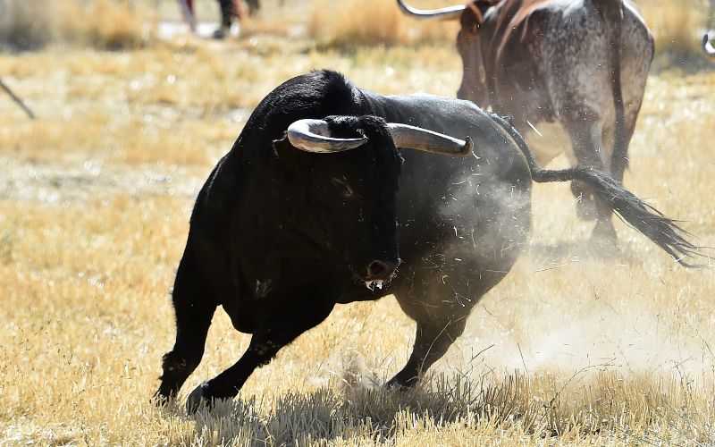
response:
[[[606,31],[610,35],[609,70],[610,86],[613,95],[613,108],[616,112],[614,126],[613,155],[610,157],[610,172],[619,181],[628,167],[628,148],[626,142],[626,110],[623,105],[623,89],[620,83],[620,48],[621,30],[623,29],[623,2],[621,0],[594,0]]]

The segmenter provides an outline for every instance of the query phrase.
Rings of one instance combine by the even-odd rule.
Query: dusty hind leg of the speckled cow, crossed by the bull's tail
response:
[[[602,153],[602,126],[595,116],[578,114],[572,120],[564,123],[571,139],[571,145],[580,166],[590,166],[604,170]],[[610,218],[613,210],[595,198],[591,188],[580,181],[571,183],[571,191],[578,198],[576,213],[582,219],[595,218],[596,226],[593,228],[592,240],[606,242],[609,246],[617,240],[616,230]]]

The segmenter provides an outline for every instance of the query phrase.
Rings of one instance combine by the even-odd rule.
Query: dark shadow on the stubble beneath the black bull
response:
[[[451,382],[437,380],[433,390],[320,388],[282,395],[273,402],[258,397],[219,401],[211,412],[200,409],[193,416],[195,439],[221,444],[308,444],[356,438],[385,443],[420,425],[476,424],[480,419],[476,415],[485,414],[485,402],[515,401],[507,394],[518,389],[508,386],[493,392],[467,380]],[[175,412],[185,415],[178,406]]]

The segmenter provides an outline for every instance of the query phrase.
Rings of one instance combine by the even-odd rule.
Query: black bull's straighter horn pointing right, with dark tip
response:
[[[421,127],[388,122],[392,141],[398,148],[409,148],[447,156],[468,156],[472,153],[472,139],[452,138],[443,133],[428,131]]]

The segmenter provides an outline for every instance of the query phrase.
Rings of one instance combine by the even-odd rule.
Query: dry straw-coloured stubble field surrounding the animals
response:
[[[642,3],[675,42],[682,27]],[[387,298],[336,308],[213,413],[156,409],[189,213],[252,107],[322,67],[383,93],[454,97],[461,65],[454,23],[417,26],[392,7],[268,1],[242,38],[161,42],[144,24],[175,5],[153,4],[117,15],[129,40],[108,21],[68,38],[63,15],[62,42],[0,53],[0,76],[38,114],[0,95],[0,444],[715,443],[715,270],[677,266],[620,222],[623,255],[591,257],[568,185],[535,187],[528,253],[415,392],[381,388],[414,337]],[[688,5],[663,14],[703,26]],[[131,49],[76,38],[105,47],[107,34]],[[690,65],[669,66],[683,56],[659,44],[625,183],[712,246],[715,71],[696,40],[681,44]],[[181,400],[247,345],[218,312]]]

